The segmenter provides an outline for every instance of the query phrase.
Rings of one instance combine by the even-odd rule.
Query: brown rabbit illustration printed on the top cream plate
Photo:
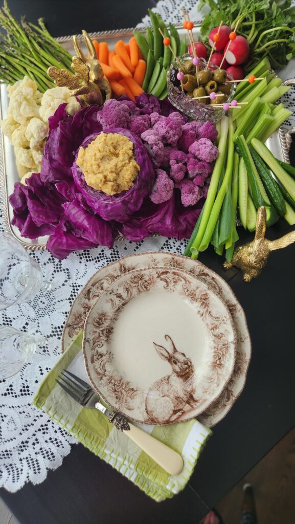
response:
[[[167,348],[153,344],[158,355],[171,365],[172,373],[152,384],[146,398],[148,420],[158,423],[173,422],[198,402],[191,360],[176,349],[169,335],[165,335],[165,339]]]

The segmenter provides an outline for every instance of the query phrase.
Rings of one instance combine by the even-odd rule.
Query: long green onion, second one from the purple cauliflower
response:
[[[226,191],[228,191],[228,188],[231,187],[233,163],[234,163],[233,134],[234,134],[233,118],[232,118],[232,115],[229,115],[228,116],[228,148],[227,148],[227,163],[226,163],[225,175],[224,175],[223,182],[221,184],[221,188],[218,191],[215,202],[213,204],[212,211],[210,214],[210,220],[207,221],[204,236],[199,244],[199,249],[198,249],[199,251],[205,251],[205,249],[207,249],[207,247],[209,246],[209,243],[210,243],[213,231],[214,231],[214,227],[218,219],[218,215],[222,208],[222,203],[223,203]],[[218,161],[218,158],[217,158],[217,161]]]

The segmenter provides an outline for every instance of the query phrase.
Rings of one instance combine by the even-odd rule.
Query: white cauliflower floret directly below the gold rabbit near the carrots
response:
[[[71,116],[77,113],[81,106],[74,96],[71,96],[71,91],[68,88],[52,88],[45,91],[41,100],[40,117],[44,122],[48,122],[48,118],[52,116],[60,104],[67,102],[65,110]]]

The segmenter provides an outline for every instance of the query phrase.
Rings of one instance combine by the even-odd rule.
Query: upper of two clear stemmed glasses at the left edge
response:
[[[9,233],[0,233],[0,310],[27,302],[35,294],[49,290],[37,262]]]

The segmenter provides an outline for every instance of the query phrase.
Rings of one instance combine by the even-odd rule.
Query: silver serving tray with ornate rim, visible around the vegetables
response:
[[[199,35],[200,22],[194,23],[194,36],[195,39]],[[145,33],[145,28],[136,28],[140,32]],[[177,27],[180,36],[186,31],[182,27]],[[97,33],[90,33],[92,38],[97,40],[106,40],[108,46],[112,49],[115,46],[115,42],[119,39],[128,41],[133,35],[133,28],[130,29],[118,29],[114,31],[101,31]],[[78,38],[82,40],[82,35],[78,35]],[[72,36],[64,36],[57,38],[57,40],[67,49],[71,54],[74,54],[72,45]],[[295,85],[295,79],[286,80],[283,82],[284,85]],[[6,117],[8,108],[8,97],[6,84],[0,84],[0,119]],[[291,145],[291,133],[294,129],[290,129],[288,133],[285,133],[282,128],[279,128],[274,135],[272,135],[266,142],[268,148],[272,153],[279,159],[289,163],[289,148]],[[20,232],[17,227],[12,225],[13,209],[9,204],[8,196],[13,193],[15,182],[19,182],[19,176],[16,168],[14,148],[9,143],[7,137],[4,136],[2,130],[0,133],[0,200],[1,200],[1,211],[4,230],[11,233],[26,249],[46,249],[46,242],[48,237],[39,237],[36,239],[23,238],[20,236]],[[118,236],[117,240],[124,240],[124,236]]]

